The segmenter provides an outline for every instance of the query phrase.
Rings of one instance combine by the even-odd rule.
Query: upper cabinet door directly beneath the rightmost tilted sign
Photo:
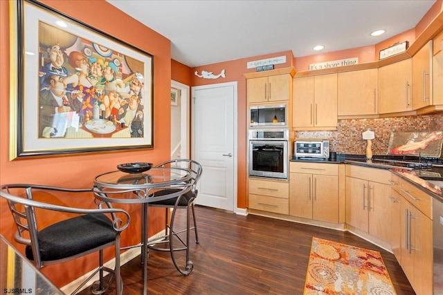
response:
[[[412,111],[412,59],[379,68],[379,113]]]

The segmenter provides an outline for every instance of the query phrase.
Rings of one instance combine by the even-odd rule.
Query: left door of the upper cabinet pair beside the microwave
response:
[[[314,126],[314,76],[293,79],[293,127]]]

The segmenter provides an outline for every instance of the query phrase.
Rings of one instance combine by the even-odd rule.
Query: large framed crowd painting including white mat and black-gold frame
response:
[[[153,148],[153,56],[42,3],[11,5],[10,159]]]

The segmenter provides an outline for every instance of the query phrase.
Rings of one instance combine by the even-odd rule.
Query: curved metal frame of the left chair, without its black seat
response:
[[[16,193],[12,194],[12,191],[24,190],[18,193],[19,196],[16,196]],[[50,187],[38,184],[4,184],[0,189],[0,197],[6,199],[8,202],[9,209],[12,213],[12,217],[14,218],[15,224],[17,225],[17,231],[15,233],[15,240],[21,244],[24,244],[32,250],[32,259],[29,258],[30,254],[26,253],[26,258],[31,260],[37,269],[40,269],[44,265],[54,265],[57,263],[62,263],[65,261],[73,260],[75,258],[79,258],[81,256],[85,256],[87,254],[91,254],[93,252],[99,251],[99,267],[96,269],[91,276],[89,276],[84,282],[75,289],[71,294],[76,294],[82,289],[82,287],[93,278],[98,272],[100,279],[94,282],[91,285],[91,292],[93,294],[102,294],[109,289],[112,280],[114,277],[116,278],[116,294],[123,294],[123,280],[120,276],[120,232],[126,229],[129,225],[130,216],[129,213],[122,209],[113,209],[108,205],[108,208],[102,209],[102,204],[98,205],[98,209],[80,209],[73,207],[65,207],[57,204],[51,204],[47,202],[40,202],[33,200],[33,192],[35,191],[59,191],[66,193],[85,193],[92,192],[92,189],[67,189],[62,187]],[[26,198],[20,197],[26,195]],[[20,204],[20,206],[18,205]],[[23,206],[23,208],[21,208]],[[49,210],[49,211],[60,211],[65,213],[73,213],[78,218],[84,218],[89,216],[96,216],[97,218],[102,218],[102,220],[108,219],[111,222],[112,229],[115,231],[115,240],[111,242],[107,242],[104,245],[98,245],[97,247],[93,247],[92,249],[87,249],[87,251],[82,251],[78,254],[74,254],[69,256],[63,256],[60,259],[56,260],[44,260],[42,259],[41,245],[39,243],[39,231],[44,229],[48,229],[53,225],[59,225],[60,222],[66,220],[73,220],[73,218],[67,218],[66,220],[62,220],[60,222],[55,222],[53,225],[49,225],[44,229],[39,229],[37,227],[37,217],[35,214],[35,208]],[[108,216],[111,216],[111,220],[109,220]],[[75,217],[74,217],[75,218]],[[106,219],[105,219],[106,218]],[[123,218],[123,219],[122,219]],[[85,219],[86,220],[86,219]],[[126,220],[125,222],[123,220]],[[109,230],[109,229],[108,229]],[[25,233],[28,234],[25,234]],[[29,237],[28,237],[29,236]],[[108,267],[103,266],[103,249],[107,247],[111,247],[115,245],[115,253],[116,253],[116,266],[115,269],[109,269]],[[28,252],[28,251],[27,251]],[[108,272],[110,274],[110,278],[106,284],[103,283],[104,274],[103,272]]]

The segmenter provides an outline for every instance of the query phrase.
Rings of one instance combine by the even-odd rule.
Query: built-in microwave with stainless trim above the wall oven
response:
[[[251,127],[287,127],[287,105],[264,104],[249,106],[249,122]]]

